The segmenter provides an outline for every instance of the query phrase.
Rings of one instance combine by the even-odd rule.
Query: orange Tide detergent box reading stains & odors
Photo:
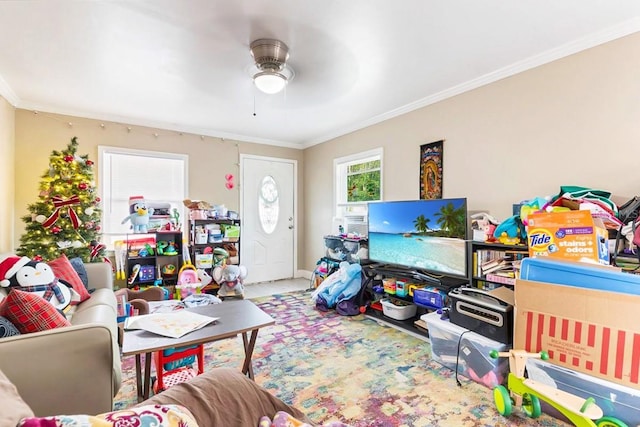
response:
[[[609,265],[607,229],[589,211],[536,213],[527,221],[529,256]]]

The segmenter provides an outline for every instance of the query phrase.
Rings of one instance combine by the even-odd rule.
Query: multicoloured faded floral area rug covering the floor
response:
[[[260,330],[255,380],[314,422],[364,426],[566,426],[519,409],[500,416],[491,390],[430,360],[429,343],[363,315],[315,309],[309,292],[253,300],[276,319]],[[206,346],[206,367],[240,367],[241,339]],[[135,403],[134,358],[124,358],[116,409]],[[257,424],[256,424],[257,425]],[[217,426],[201,426],[217,427]]]

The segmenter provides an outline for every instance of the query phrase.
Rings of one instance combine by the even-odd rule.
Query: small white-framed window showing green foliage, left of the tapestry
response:
[[[366,221],[367,202],[382,200],[382,148],[340,157],[333,167],[336,217]]]

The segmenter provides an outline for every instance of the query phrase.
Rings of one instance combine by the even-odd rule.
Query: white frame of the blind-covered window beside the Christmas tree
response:
[[[112,211],[112,200],[111,200],[111,185],[110,183],[112,182],[112,177],[111,177],[111,170],[108,168],[108,164],[110,162],[110,160],[107,160],[107,158],[110,155],[129,155],[129,156],[138,156],[141,158],[160,158],[160,159],[168,159],[168,160],[177,160],[177,161],[181,161],[183,162],[183,170],[184,170],[184,176],[183,176],[183,197],[181,198],[181,200],[162,200],[162,202],[171,202],[172,207],[175,207],[178,209],[178,212],[180,214],[180,222],[182,223],[182,230],[184,232],[184,227],[186,224],[186,217],[185,217],[185,209],[184,209],[184,205],[182,203],[182,201],[187,197],[187,195],[189,194],[189,156],[186,154],[178,154],[178,153],[168,153],[168,152],[161,152],[161,151],[151,151],[151,150],[136,150],[136,149],[131,149],[131,148],[122,148],[122,147],[110,147],[110,146],[98,146],[98,159],[99,159],[99,177],[100,177],[100,198],[101,198],[101,208],[102,208],[102,224],[103,224],[103,230],[102,230],[102,236],[103,236],[103,243],[107,246],[107,249],[113,249],[113,242],[115,242],[116,240],[122,240],[124,238],[126,238],[126,233],[122,233],[120,231],[118,232],[113,232],[109,229],[105,229],[105,226],[108,224],[107,221],[105,221],[105,218],[108,215],[118,215],[118,214],[122,214],[122,218],[125,218],[128,214],[128,212],[120,212],[118,211],[113,212]],[[141,159],[141,161],[144,161]],[[144,165],[144,167],[146,169],[149,169],[148,164]],[[159,173],[158,171],[149,171],[149,173],[155,174],[158,177],[158,186],[166,186],[166,182],[163,182],[162,180],[162,176],[161,173]],[[135,192],[135,191],[133,191]],[[133,196],[133,195],[137,195],[137,194],[128,194],[127,198],[129,196]],[[144,194],[141,194],[142,196],[145,196]],[[146,200],[147,202],[159,202],[160,200]]]

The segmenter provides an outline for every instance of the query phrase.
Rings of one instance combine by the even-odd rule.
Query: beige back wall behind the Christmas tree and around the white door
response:
[[[104,126],[103,126],[104,125]],[[13,126],[11,127],[13,129]],[[0,129],[1,133],[1,129]],[[273,147],[240,141],[221,140],[174,131],[84,119],[48,113],[16,110],[15,114],[15,247],[24,232],[21,216],[27,205],[38,197],[40,176],[47,170],[53,150],[64,149],[72,137],[78,137],[78,153],[88,154],[98,163],[98,146],[126,147],[189,155],[189,198],[223,203],[227,208],[239,210],[239,185],[233,190],[225,188],[225,175],[235,175],[240,183],[240,153],[280,157],[298,161],[298,185],[302,188],[303,153],[301,150]],[[1,150],[1,146],[0,146]],[[98,165],[99,167],[99,165]],[[162,171],[149,171],[162,180]],[[98,180],[98,169],[95,171]],[[100,183],[97,183],[100,185]],[[300,218],[304,216],[302,197],[297,197]],[[123,218],[126,213],[123,214]],[[298,239],[302,241],[304,228],[299,227]],[[301,259],[302,244],[298,244]]]

